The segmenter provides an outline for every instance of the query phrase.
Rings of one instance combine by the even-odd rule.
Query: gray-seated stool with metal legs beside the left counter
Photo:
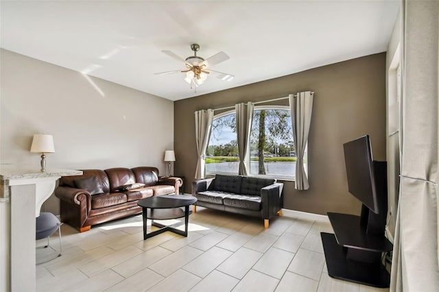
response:
[[[50,247],[49,238],[52,234],[58,230],[59,232],[59,239],[60,239],[60,252],[58,252],[52,248],[52,250],[55,250],[56,256],[54,258],[58,258],[58,256],[61,256],[62,254],[62,243],[61,243],[61,228],[60,226],[62,223],[56,218],[55,215],[49,212],[40,212],[40,216],[36,217],[36,240],[38,239],[45,239],[47,237],[47,245],[37,248],[47,248]],[[54,258],[50,258],[49,260],[53,260]],[[47,263],[49,260],[45,260],[42,263]],[[37,265],[42,264],[37,263]]]

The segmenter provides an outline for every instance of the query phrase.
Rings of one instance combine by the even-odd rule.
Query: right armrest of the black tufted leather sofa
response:
[[[261,188],[263,219],[270,219],[283,208],[283,183],[275,182]]]

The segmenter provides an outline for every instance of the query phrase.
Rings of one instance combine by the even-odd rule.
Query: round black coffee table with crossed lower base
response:
[[[182,236],[187,236],[189,206],[195,202],[197,202],[197,198],[192,197],[191,195],[159,195],[139,199],[137,205],[142,207],[143,240],[149,239],[150,237],[161,234],[167,230]],[[185,207],[185,210],[181,207]],[[154,219],[167,220],[181,217],[185,217],[185,231],[176,229],[176,226],[180,226],[181,222],[170,226],[154,222]],[[160,229],[147,233],[147,219],[152,219],[152,225]]]

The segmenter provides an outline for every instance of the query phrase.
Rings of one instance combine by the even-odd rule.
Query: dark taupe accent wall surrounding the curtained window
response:
[[[174,173],[185,176],[185,193],[191,193],[197,161],[196,110],[263,101],[312,90],[314,104],[308,147],[310,188],[296,191],[294,182],[284,181],[284,208],[321,215],[327,212],[359,215],[361,204],[348,193],[342,144],[369,134],[373,158],[386,158],[385,57],[385,53],[377,53],[175,101]],[[263,68],[255,64],[254,70]],[[287,100],[284,105],[287,105]]]

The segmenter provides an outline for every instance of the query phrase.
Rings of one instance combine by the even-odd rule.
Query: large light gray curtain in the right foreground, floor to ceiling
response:
[[[401,4],[401,182],[390,291],[438,291],[439,1]]]

